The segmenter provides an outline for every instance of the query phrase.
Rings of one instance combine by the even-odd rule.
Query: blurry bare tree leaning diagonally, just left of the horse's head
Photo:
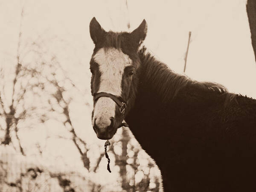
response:
[[[47,70],[44,70],[45,68],[47,68]],[[46,119],[53,119],[56,117],[56,120],[64,125],[66,130],[72,135],[72,137],[68,139],[72,140],[79,151],[84,167],[88,171],[96,172],[99,163],[104,156],[104,152],[102,151],[100,154],[96,166],[90,167],[90,159],[87,156],[89,147],[86,141],[82,140],[76,133],[76,128],[73,125],[73,119],[70,112],[70,104],[74,100],[73,95],[78,96],[80,94],[82,98],[84,93],[81,93],[73,81],[67,77],[67,72],[61,67],[61,64],[58,63],[55,56],[52,57],[51,62],[42,62],[41,64],[38,64],[37,68],[33,71],[38,74],[38,78],[40,78],[41,81],[44,81],[44,87],[49,87],[48,90],[44,89],[49,104],[49,108],[44,111],[44,117]],[[47,73],[44,74],[42,71],[47,71]],[[60,73],[61,78],[59,77]],[[73,95],[69,93],[73,93]],[[89,104],[85,102],[84,105],[88,106]],[[52,115],[54,113],[57,113],[57,115]]]

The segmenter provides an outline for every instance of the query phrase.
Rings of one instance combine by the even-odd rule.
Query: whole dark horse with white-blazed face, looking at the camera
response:
[[[129,125],[154,159],[166,192],[256,191],[256,100],[175,73],[132,32],[90,21],[92,125],[109,140]],[[253,87],[252,87],[253,88]]]

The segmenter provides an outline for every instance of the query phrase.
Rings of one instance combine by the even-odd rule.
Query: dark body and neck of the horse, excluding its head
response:
[[[189,80],[143,57],[134,108],[125,120],[159,166],[165,191],[256,189],[256,100]],[[156,67],[150,71],[147,65]],[[164,69],[152,80],[156,68]],[[183,87],[165,95],[164,85],[179,78]]]

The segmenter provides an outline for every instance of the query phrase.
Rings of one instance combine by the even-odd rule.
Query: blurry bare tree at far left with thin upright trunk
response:
[[[34,92],[34,95],[38,94],[34,91],[34,88],[41,87],[42,84],[29,81],[35,76],[35,73],[33,71],[31,71],[32,73],[27,73],[28,71],[22,64],[20,44],[22,41],[23,19],[24,6],[20,12],[16,65],[11,86],[4,81],[5,69],[0,69],[0,78],[2,79],[2,84],[0,85],[0,113],[1,118],[5,121],[5,124],[1,126],[1,130],[5,131],[5,135],[3,138],[0,138],[0,142],[3,145],[14,145],[21,154],[25,155],[19,137],[19,122],[27,118],[32,118],[36,108],[34,106],[27,106],[25,99],[28,92]]]

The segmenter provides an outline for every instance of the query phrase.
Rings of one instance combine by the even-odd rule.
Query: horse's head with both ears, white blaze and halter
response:
[[[138,49],[146,37],[146,21],[133,32],[106,32],[95,17],[90,36],[95,44],[90,60],[92,125],[97,137],[108,140],[134,103],[140,58]]]

